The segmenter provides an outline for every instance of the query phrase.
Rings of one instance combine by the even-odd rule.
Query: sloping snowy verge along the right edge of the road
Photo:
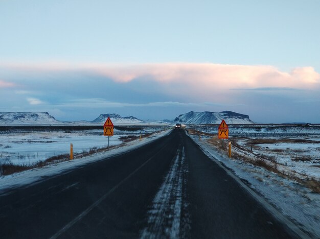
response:
[[[218,151],[203,138],[199,141],[198,136],[190,135],[190,137],[212,160],[218,160],[226,167],[227,171],[232,171],[241,180],[247,182],[250,188],[261,195],[282,215],[294,222],[302,231],[308,232],[311,237],[320,237],[320,194],[313,193],[300,183],[281,177],[264,168],[246,163],[238,158],[230,159],[226,152]],[[305,172],[319,178],[320,170],[314,169],[317,170],[316,174],[313,174],[315,171],[310,172],[309,168]]]

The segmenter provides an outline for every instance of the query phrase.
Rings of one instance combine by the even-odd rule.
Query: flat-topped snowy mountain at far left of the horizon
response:
[[[0,112],[0,125],[61,124],[48,112]]]

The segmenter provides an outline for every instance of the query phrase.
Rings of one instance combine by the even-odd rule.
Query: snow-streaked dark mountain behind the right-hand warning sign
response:
[[[175,118],[174,124],[220,124],[221,121],[225,120],[227,124],[253,124],[254,122],[249,119],[246,114],[239,114],[232,111],[222,111],[219,113],[215,112],[194,112],[190,111],[186,114],[180,114]]]

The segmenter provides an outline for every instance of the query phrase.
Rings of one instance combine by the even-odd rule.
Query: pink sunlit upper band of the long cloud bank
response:
[[[153,63],[153,64],[80,64],[66,63],[2,65],[21,71],[84,71],[126,83],[138,78],[164,84],[177,83],[194,90],[230,88],[287,87],[311,89],[319,87],[320,74],[313,67],[296,67],[291,72],[269,65],[227,65],[211,63]],[[0,87],[5,85],[0,81]],[[11,84],[11,83],[8,83]],[[7,85],[8,87],[8,85]]]

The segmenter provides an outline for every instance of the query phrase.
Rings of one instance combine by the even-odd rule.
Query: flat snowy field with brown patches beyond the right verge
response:
[[[215,136],[218,132],[210,126],[194,129]],[[233,125],[229,135],[239,156],[263,159],[286,175],[320,180],[320,125]]]

